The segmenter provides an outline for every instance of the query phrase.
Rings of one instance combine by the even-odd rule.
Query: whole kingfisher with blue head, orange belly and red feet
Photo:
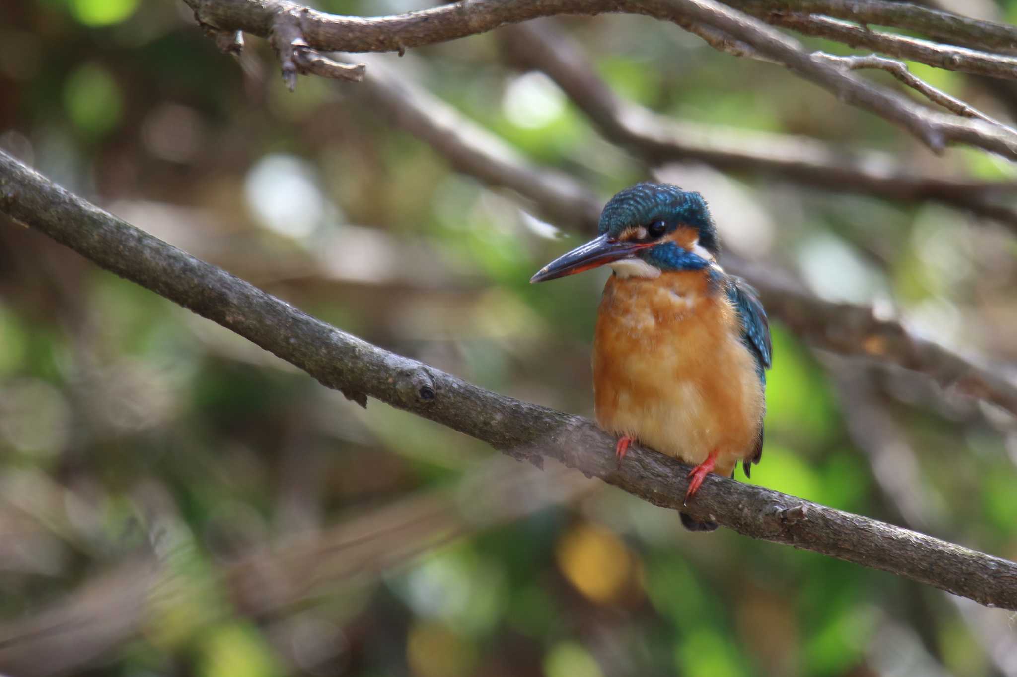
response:
[[[541,268],[531,282],[610,266],[597,311],[597,423],[618,437],[618,464],[639,442],[695,466],[684,504],[710,472],[745,476],[763,455],[770,326],[757,291],[717,264],[706,200],[671,184],[612,197],[599,235]],[[716,523],[681,513],[691,531]]]

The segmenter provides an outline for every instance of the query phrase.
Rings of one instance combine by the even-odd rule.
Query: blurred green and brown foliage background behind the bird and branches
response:
[[[1017,18],[1017,2],[962,4]],[[14,0],[0,17],[0,147],[341,329],[592,414],[605,273],[528,284],[588,233],[457,172],[366,82],[301,77],[290,93],[263,41],[224,55],[182,2]],[[704,138],[805,135],[1013,192],[1009,162],[937,157],[674,25],[543,24],[617,95],[707,125]],[[736,165],[647,164],[512,48],[495,31],[372,57],[368,81],[387,73],[429,91],[454,122],[599,201],[651,176],[701,191],[728,252],[1012,373],[1006,226]],[[1011,120],[1009,83],[913,70]],[[772,326],[766,450],[739,480],[1017,557],[1009,414]],[[562,468],[537,471],[374,401],[361,409],[5,220],[0,463],[6,674],[1017,675],[1005,612],[723,529],[691,534]]]

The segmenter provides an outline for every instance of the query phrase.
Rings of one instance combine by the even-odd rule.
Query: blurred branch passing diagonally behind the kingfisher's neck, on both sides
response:
[[[435,151],[451,158],[460,172],[485,183],[508,188],[538,213],[586,232],[595,232],[600,205],[589,191],[565,175],[549,182],[543,171],[504,150],[504,144],[416,85],[397,78],[376,59],[367,59],[371,76],[358,92],[371,110],[388,117]],[[584,197],[586,196],[586,197]],[[774,275],[764,266],[724,260],[724,265],[756,285],[767,312],[816,347],[863,355],[920,371],[944,388],[988,400],[1017,414],[1017,386],[947,348],[908,332],[900,323],[880,320],[868,307],[818,298]]]

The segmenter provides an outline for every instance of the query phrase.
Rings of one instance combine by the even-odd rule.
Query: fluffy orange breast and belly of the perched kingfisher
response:
[[[703,271],[611,275],[597,316],[597,422],[685,463],[717,451],[729,475],[753,455],[765,411],[739,319]]]

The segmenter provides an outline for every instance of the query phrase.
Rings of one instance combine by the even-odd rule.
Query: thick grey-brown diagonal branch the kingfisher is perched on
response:
[[[360,393],[520,460],[553,458],[656,505],[1017,610],[1017,564],[931,536],[726,478],[682,507],[687,467],[636,450],[620,467],[593,422],[483,390],[371,345],[199,261],[0,152],[0,211],[94,263],[207,318],[330,388]]]

